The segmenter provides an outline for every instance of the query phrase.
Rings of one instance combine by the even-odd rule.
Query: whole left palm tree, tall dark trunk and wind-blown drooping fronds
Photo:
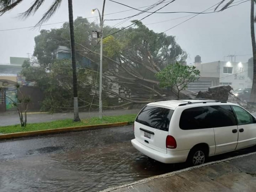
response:
[[[5,12],[12,10],[23,0],[0,0],[0,16]],[[21,13],[23,18],[28,18],[33,15],[44,3],[45,0],[35,0],[35,2],[28,8],[27,11]],[[40,26],[42,23],[48,21],[57,9],[60,7],[62,0],[52,0],[52,5],[44,13],[41,20],[38,21],[36,26]],[[73,92],[74,92],[74,121],[80,121],[78,114],[78,102],[77,102],[77,76],[76,76],[76,57],[75,57],[75,37],[74,37],[74,24],[73,24],[73,8],[72,0],[68,0],[68,16],[69,16],[69,28],[70,28],[70,47],[71,47],[71,59],[73,69]]]

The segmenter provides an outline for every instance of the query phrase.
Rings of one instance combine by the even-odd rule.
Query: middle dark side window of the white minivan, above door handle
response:
[[[213,105],[208,107],[210,116],[207,121],[210,122],[210,127],[228,127],[236,125],[236,117],[230,105]]]

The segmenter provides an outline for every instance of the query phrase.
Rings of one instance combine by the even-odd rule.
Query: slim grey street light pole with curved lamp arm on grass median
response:
[[[104,8],[105,8],[105,2],[103,1],[103,8],[102,8],[102,14],[100,15],[99,9],[93,9],[92,12],[97,10],[99,12],[100,16],[100,90],[99,90],[99,118],[102,119],[102,40],[103,40],[103,17],[104,17]]]

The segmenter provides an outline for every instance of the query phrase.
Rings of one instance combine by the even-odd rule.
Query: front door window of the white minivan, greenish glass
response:
[[[254,123],[254,118],[246,110],[238,106],[232,106],[232,108],[235,111],[238,125]]]

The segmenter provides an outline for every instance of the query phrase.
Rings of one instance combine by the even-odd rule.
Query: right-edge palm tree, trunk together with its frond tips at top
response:
[[[225,1],[228,1],[227,4],[224,5],[220,9],[220,11],[225,10],[230,4],[232,4],[235,0],[222,0],[218,6],[215,8],[215,10],[218,9],[218,7],[223,4]],[[250,16],[250,22],[251,22],[251,39],[252,39],[252,57],[253,57],[253,80],[252,80],[252,92],[251,92],[251,99],[250,101],[253,103],[256,103],[256,42],[255,42],[255,33],[254,33],[254,22],[256,21],[256,18],[254,18],[254,4],[256,3],[256,0],[251,0],[251,16]]]

